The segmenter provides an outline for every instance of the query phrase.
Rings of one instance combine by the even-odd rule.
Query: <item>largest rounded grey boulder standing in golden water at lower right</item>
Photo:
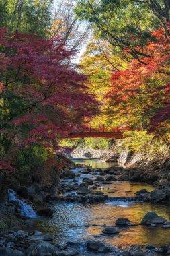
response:
[[[166,220],[165,218],[158,216],[155,212],[148,212],[143,218],[141,224],[151,225],[151,224],[162,224]]]

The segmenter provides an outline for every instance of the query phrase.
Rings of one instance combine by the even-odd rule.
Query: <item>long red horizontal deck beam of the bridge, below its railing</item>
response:
[[[123,138],[122,133],[112,133],[112,132],[89,132],[89,133],[70,133],[67,135],[67,139],[76,138]]]

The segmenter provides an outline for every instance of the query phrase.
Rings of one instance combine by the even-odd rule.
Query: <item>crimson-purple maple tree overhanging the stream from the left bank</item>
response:
[[[13,170],[16,150],[35,144],[57,150],[57,137],[79,129],[97,102],[59,38],[8,36],[1,28],[0,48],[1,169]]]

